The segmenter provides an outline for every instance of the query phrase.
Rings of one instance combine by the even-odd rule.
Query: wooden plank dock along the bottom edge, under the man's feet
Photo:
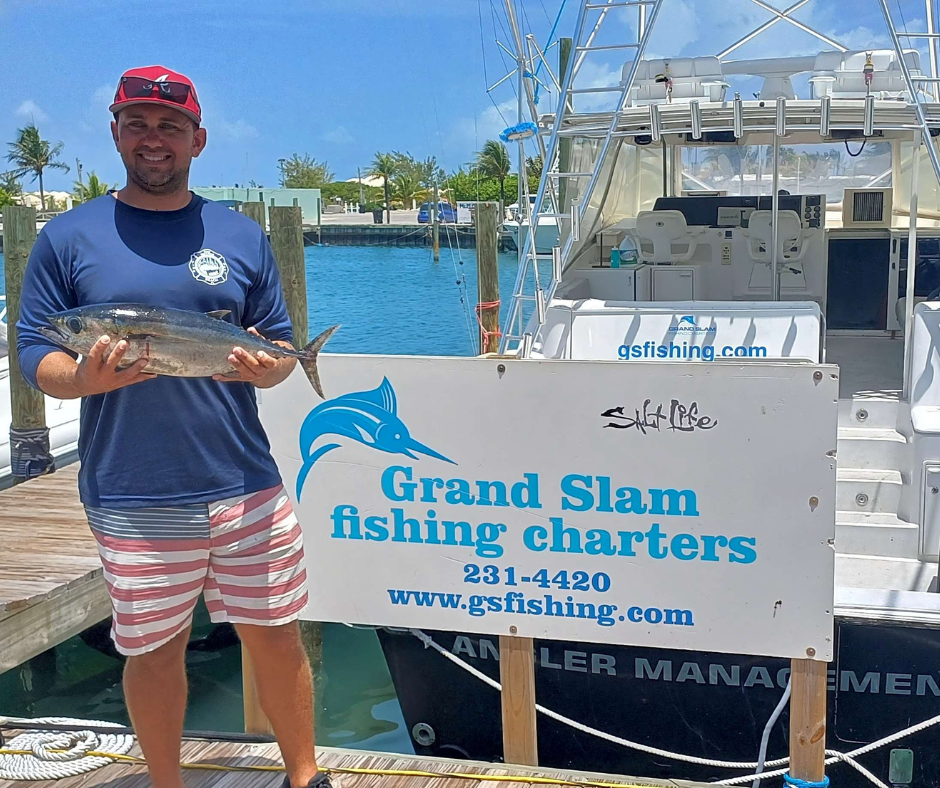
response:
[[[140,748],[135,744],[129,754],[139,757]],[[284,779],[283,771],[244,770],[244,767],[280,767],[281,755],[276,744],[185,741],[182,757],[183,762],[188,764],[239,768],[239,771],[184,769],[183,781],[186,788],[280,788]],[[450,758],[406,757],[393,753],[334,747],[318,747],[317,760],[321,767],[332,771],[333,788],[532,788],[533,784],[705,788],[704,783],[677,780],[645,780],[595,772],[507,766],[501,763]],[[360,773],[356,773],[357,770]],[[363,771],[366,773],[362,773]],[[403,771],[427,774],[398,774]],[[507,775],[521,779],[505,780]],[[500,779],[488,780],[487,776]],[[548,780],[534,783],[530,781],[532,777]],[[0,780],[0,788],[39,788],[52,785],[55,788],[148,788],[150,779],[142,765],[115,762],[79,777],[66,777],[55,782]]]

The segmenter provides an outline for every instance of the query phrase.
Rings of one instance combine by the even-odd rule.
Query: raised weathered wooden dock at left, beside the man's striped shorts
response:
[[[111,613],[78,463],[0,492],[0,673]]]

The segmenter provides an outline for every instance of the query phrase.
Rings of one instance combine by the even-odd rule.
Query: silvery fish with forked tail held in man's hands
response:
[[[88,355],[99,337],[111,338],[107,356],[123,339],[128,348],[119,369],[147,358],[144,372],[184,378],[235,377],[238,373],[228,360],[232,348],[243,348],[253,356],[263,350],[273,358],[296,358],[314,391],[326,399],[317,370],[317,354],[339,328],[338,324],[323,331],[303,349],[291,350],[230,323],[225,318],[231,313],[230,309],[195,312],[145,304],[94,304],[46,315],[49,325],[41,326],[39,331],[60,347],[83,356]]]

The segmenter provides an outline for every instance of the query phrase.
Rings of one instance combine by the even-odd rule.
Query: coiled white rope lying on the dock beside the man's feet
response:
[[[5,719],[5,722],[36,725],[92,725],[96,728],[120,728],[111,722],[78,720],[71,717],[39,717],[36,719]],[[25,731],[6,743],[5,749],[30,750],[32,755],[0,755],[2,780],[58,780],[74,777],[109,763],[114,758],[88,755],[89,752],[126,754],[134,746],[134,737],[127,734],[93,733],[92,731],[55,732]],[[64,750],[64,752],[51,752]]]

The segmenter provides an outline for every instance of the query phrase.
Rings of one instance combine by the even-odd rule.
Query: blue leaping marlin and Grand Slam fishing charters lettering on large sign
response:
[[[343,394],[317,406],[300,429],[300,449],[304,458],[297,477],[297,499],[314,464],[341,444],[325,436],[340,436],[388,454],[413,460],[419,455],[456,465],[454,460],[411,437],[398,417],[398,401],[388,379],[371,391]],[[434,464],[431,467],[433,469]],[[758,560],[757,539],[753,536],[703,533],[700,526],[682,527],[686,518],[700,516],[699,495],[693,489],[672,487],[640,488],[618,485],[610,476],[565,473],[546,484],[540,474],[519,469],[511,481],[500,479],[444,478],[429,473],[421,476],[410,465],[390,465],[382,472],[378,489],[362,485],[356,495],[363,508],[376,511],[378,500],[388,504],[388,514],[360,515],[355,503],[330,501],[331,491],[319,491],[318,499],[329,501],[333,539],[364,542],[397,542],[412,545],[448,545],[471,548],[481,558],[500,558],[501,540],[510,533],[504,519],[512,519],[511,538],[530,553],[564,553],[603,558],[660,561],[703,561],[726,564],[752,564]],[[558,512],[575,513],[579,523],[566,524],[564,514],[546,513],[543,500],[547,489],[555,487]],[[408,507],[407,509],[405,507]],[[447,508],[458,512],[480,511],[473,522],[464,516],[450,519]],[[440,513],[438,510],[441,510]],[[537,512],[529,524],[519,523],[527,511]],[[506,517],[504,517],[504,514]],[[613,517],[610,517],[613,516]],[[619,523],[613,518],[623,516]],[[637,522],[635,518],[651,518]],[[585,528],[588,518],[591,525]],[[608,527],[601,527],[607,525]]]

